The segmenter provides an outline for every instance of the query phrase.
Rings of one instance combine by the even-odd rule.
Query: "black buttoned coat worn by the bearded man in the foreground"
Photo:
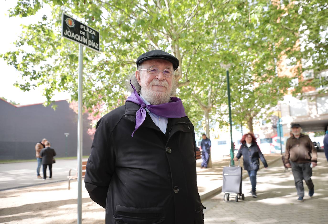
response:
[[[202,224],[195,134],[188,117],[169,118],[166,134],[126,102],[97,123],[85,187],[106,208],[106,224]]]

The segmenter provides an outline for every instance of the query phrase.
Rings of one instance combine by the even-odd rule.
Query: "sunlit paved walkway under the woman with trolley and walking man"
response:
[[[281,161],[257,173],[256,191],[258,198],[247,194],[251,190],[249,178],[242,184],[245,200],[223,201],[224,193],[203,201],[204,223],[280,223],[280,224],[327,224],[328,223],[328,163],[323,153],[318,153],[318,166],[313,168],[312,180],[315,194],[308,196],[304,183],[304,202],[297,202],[294,178],[291,172],[284,172]]]

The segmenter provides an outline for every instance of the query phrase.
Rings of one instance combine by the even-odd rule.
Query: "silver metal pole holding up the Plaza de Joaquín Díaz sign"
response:
[[[77,114],[77,224],[82,223],[82,70],[83,45],[79,44],[79,82],[78,82],[78,114]]]

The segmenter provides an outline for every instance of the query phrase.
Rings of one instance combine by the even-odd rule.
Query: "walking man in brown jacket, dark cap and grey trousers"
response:
[[[292,125],[292,133],[294,136],[288,138],[286,143],[285,163],[287,167],[292,167],[298,195],[297,201],[303,202],[303,180],[309,188],[309,196],[312,197],[314,194],[311,176],[312,167],[317,165],[317,149],[310,137],[301,133],[299,124]]]

